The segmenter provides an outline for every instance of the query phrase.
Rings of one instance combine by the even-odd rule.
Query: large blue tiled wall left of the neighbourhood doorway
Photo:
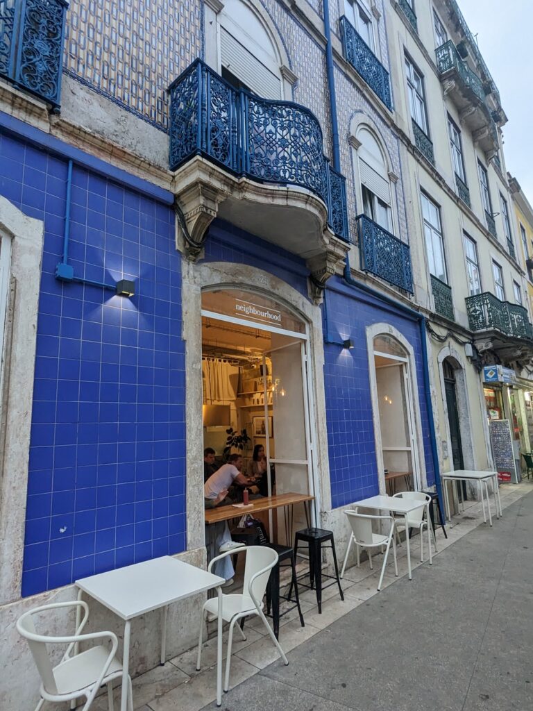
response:
[[[44,220],[22,594],[185,549],[185,361],[173,212],[0,134],[0,194]]]

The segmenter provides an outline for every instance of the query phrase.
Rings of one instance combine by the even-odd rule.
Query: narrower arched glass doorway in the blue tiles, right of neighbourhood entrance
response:
[[[419,445],[409,353],[394,336],[380,333],[372,342],[381,449],[387,491],[397,486],[419,490],[422,486]]]

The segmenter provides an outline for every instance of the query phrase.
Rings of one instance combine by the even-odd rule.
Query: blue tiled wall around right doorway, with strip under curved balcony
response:
[[[205,259],[249,264],[264,269],[307,296],[308,269],[303,260],[247,235],[242,230],[232,228],[231,225],[214,223],[206,242]],[[328,284],[339,285],[342,280],[332,277]],[[340,289],[343,293],[328,289],[326,294],[330,336],[334,340],[339,337],[352,338],[355,348],[346,350],[338,346],[324,346],[325,406],[333,508],[346,506],[358,498],[378,492],[365,333],[365,328],[370,324],[391,324],[403,333],[414,348],[427,480],[429,485],[434,483],[419,326],[401,314],[383,311],[378,302],[368,304],[368,299],[359,298],[360,294],[355,289],[343,286]]]

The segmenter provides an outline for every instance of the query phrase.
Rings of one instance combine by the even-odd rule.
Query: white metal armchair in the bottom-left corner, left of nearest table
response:
[[[35,615],[47,612],[48,610],[58,610],[65,608],[76,608],[83,611],[80,624],[77,626],[75,634],[65,636],[46,636],[37,634],[33,621]],[[80,610],[81,609],[81,610]],[[28,642],[33,661],[35,661],[39,675],[41,676],[41,700],[36,706],[36,711],[41,709],[45,701],[73,701],[85,696],[85,705],[82,711],[87,711],[98,690],[103,685],[107,685],[107,699],[109,711],[113,711],[113,690],[112,682],[122,678],[122,663],[117,659],[117,635],[112,632],[92,632],[81,634],[82,629],[89,617],[89,606],[82,600],[75,602],[57,602],[49,605],[42,605],[33,610],[25,612],[18,618],[16,629],[18,634],[23,636]],[[77,653],[80,642],[85,641],[106,641],[85,651]],[[60,663],[52,666],[48,655],[47,645],[68,644],[67,650]],[[129,711],[133,711],[133,700],[131,697],[131,678],[129,678]]]

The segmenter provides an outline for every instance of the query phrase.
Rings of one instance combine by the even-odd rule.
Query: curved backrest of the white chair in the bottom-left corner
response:
[[[29,610],[28,612],[25,612],[23,615],[21,615],[16,622],[16,629],[18,631],[18,634],[20,634],[28,642],[28,646],[33,656],[33,661],[36,663],[39,675],[41,676],[43,687],[50,694],[57,694],[58,687],[55,683],[53,665],[50,659],[50,655],[48,653],[47,643],[50,644],[50,642],[70,642],[72,640],[72,637],[49,637],[42,634],[38,634],[36,631],[35,623],[33,621],[33,617],[52,609],[75,606],[82,607],[84,611],[80,627],[78,628],[78,631],[81,631],[81,629],[85,626],[85,622],[87,621],[87,616],[89,614],[89,608],[87,606],[87,603],[83,601],[60,602],[35,607],[33,608],[33,610]]]

